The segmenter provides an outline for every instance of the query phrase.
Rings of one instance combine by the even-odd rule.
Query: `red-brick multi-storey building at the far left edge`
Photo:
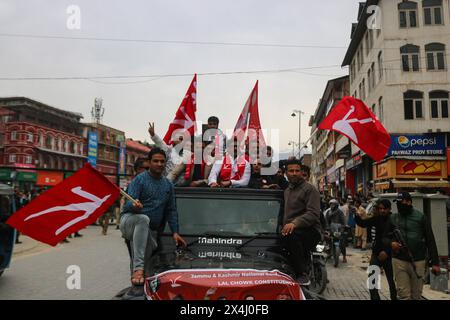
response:
[[[0,179],[52,186],[81,168],[82,117],[29,98],[0,98]]]

